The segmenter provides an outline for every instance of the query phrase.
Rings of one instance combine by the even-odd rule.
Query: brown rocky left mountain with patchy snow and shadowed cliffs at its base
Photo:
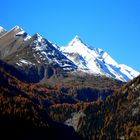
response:
[[[0,38],[0,59],[25,76],[20,79],[37,83],[60,73],[72,72],[77,66],[39,34],[30,37],[18,26]]]

